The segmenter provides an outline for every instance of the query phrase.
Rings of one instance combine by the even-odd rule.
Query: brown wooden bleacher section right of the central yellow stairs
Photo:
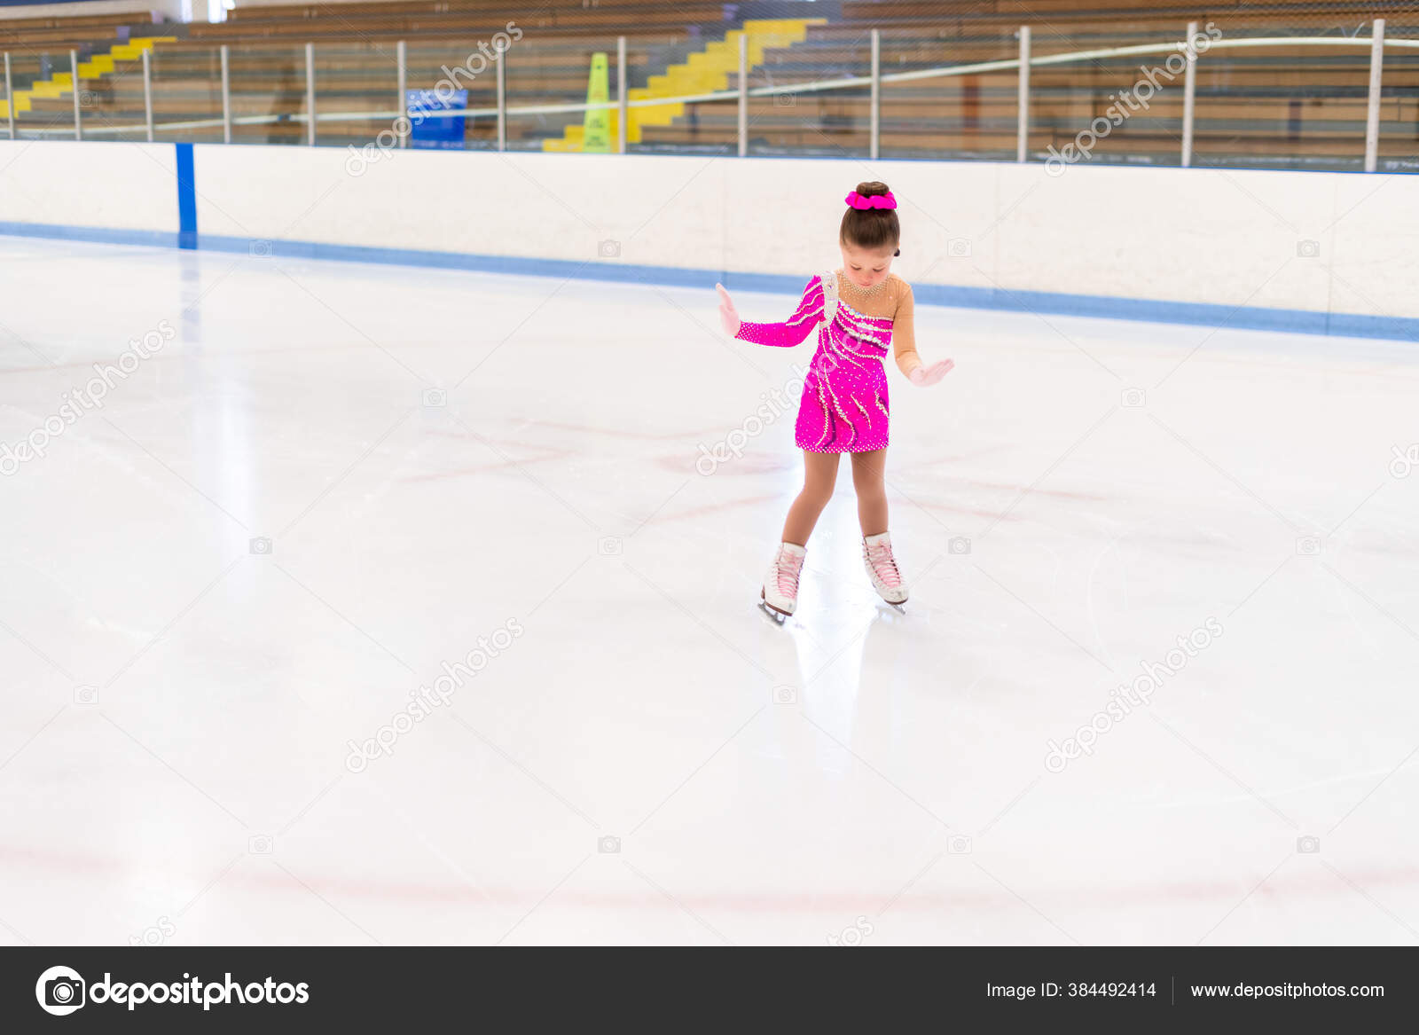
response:
[[[771,55],[751,85],[792,85],[863,75],[870,61],[867,30],[881,31],[884,74],[952,64],[972,64],[1017,54],[1015,30],[1034,20],[1036,55],[1145,43],[1183,35],[1189,20],[1215,21],[1225,35],[1354,34],[1365,17],[1386,17],[1388,35],[1419,37],[1419,14],[1396,4],[1345,4],[1325,14],[1320,4],[1220,3],[1199,7],[1144,7],[1131,0],[1043,0],[1043,3],[843,4],[843,20],[809,30],[809,38]],[[1026,11],[1027,9],[1027,11]],[[1107,10],[1105,10],[1107,9]],[[949,16],[949,17],[948,17]],[[1287,21],[1290,18],[1290,21]],[[1104,58],[1088,64],[1032,70],[1030,149],[1064,146],[1101,115],[1120,91],[1139,80],[1149,58]],[[1195,155],[1254,155],[1300,162],[1359,162],[1368,94],[1365,47],[1294,47],[1216,51],[1199,62]],[[1389,51],[1385,60],[1385,119],[1381,153],[1412,150],[1419,125],[1412,99],[1419,58]],[[900,158],[1013,158],[1016,146],[1013,70],[993,74],[884,84],[881,153]],[[1181,77],[1155,95],[1148,111],[1134,112],[1101,139],[1098,158],[1175,163],[1181,146]],[[698,104],[673,126],[647,132],[646,146],[664,150],[724,150],[736,141],[736,105]],[[870,101],[866,88],[799,94],[775,104],[752,99],[751,150],[755,153],[863,155],[868,146]]]

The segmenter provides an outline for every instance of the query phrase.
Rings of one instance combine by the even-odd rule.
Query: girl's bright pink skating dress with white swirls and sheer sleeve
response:
[[[890,406],[881,361],[893,351],[894,325],[900,332],[897,365],[902,371],[920,365],[911,329],[911,288],[890,275],[884,294],[867,308],[885,307],[891,315],[873,317],[839,298],[839,283],[833,273],[813,277],[785,322],[742,321],[735,336],[790,348],[817,328],[793,440],[812,453],[867,453],[887,447]]]

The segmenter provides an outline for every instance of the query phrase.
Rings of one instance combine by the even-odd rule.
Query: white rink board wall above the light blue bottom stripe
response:
[[[199,233],[806,278],[841,197],[887,180],[921,285],[1419,318],[1419,179],[992,162],[385,152],[196,145]],[[350,175],[350,169],[362,170]],[[0,223],[173,233],[172,145],[0,142]],[[604,257],[603,243],[619,254]],[[1314,241],[1314,246],[1307,244]],[[243,247],[244,250],[244,247]],[[1025,305],[1029,305],[1026,300]],[[1399,331],[1398,334],[1403,334]]]

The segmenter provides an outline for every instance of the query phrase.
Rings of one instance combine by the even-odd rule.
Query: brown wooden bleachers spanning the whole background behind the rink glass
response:
[[[739,18],[758,17],[755,0],[738,4]],[[304,109],[304,44],[316,44],[316,105],[321,112],[382,111],[396,106],[394,41],[406,40],[410,88],[429,88],[440,67],[455,67],[507,21],[524,38],[507,58],[511,106],[576,102],[585,97],[590,54],[614,51],[616,35],[627,35],[631,85],[683,61],[731,27],[718,3],[685,6],[646,0],[549,0],[518,16],[505,0],[417,0],[359,4],[289,4],[231,11],[224,24],[193,24],[184,38],[159,44],[153,53],[155,108],[163,122],[220,116],[216,48],[231,48],[233,106],[237,116]],[[776,6],[782,10],[783,4]],[[866,74],[867,30],[881,30],[883,71],[1010,58],[1015,30],[1034,27],[1034,53],[1063,53],[1125,44],[1159,44],[1181,38],[1189,20],[1213,21],[1229,38],[1243,35],[1354,34],[1372,17],[1388,18],[1391,37],[1419,37],[1419,4],[1276,3],[1219,0],[1188,6],[1165,0],[844,0],[841,17],[809,30],[807,40],[769,51],[751,75],[751,85],[792,85]],[[511,11],[511,14],[509,14]],[[817,13],[805,11],[805,14]],[[40,21],[40,20],[35,20]],[[112,38],[116,23],[48,18],[45,26],[0,23],[0,33],[35,45],[67,48],[84,33],[89,41]],[[54,26],[54,21],[67,23]],[[122,21],[122,20],[119,20]],[[126,24],[126,23],[123,23]],[[34,33],[35,35],[27,35]],[[38,34],[67,37],[48,44]],[[34,51],[34,45],[28,47]],[[1118,91],[1139,78],[1139,65],[1159,65],[1164,55],[1103,58],[1078,65],[1032,71],[1032,152],[1063,146],[1111,104]],[[1195,150],[1209,156],[1254,155],[1259,163],[1281,158],[1344,163],[1358,160],[1365,114],[1369,54],[1365,47],[1281,47],[1216,51],[1205,55],[1198,74]],[[85,82],[95,121],[140,124],[142,78],[121,67],[104,81]],[[1382,153],[1401,153],[1419,126],[1419,57],[1389,51],[1385,64]],[[463,84],[470,105],[494,104],[491,71]],[[62,125],[71,101],[44,101],[21,118],[28,125]],[[1100,141],[1103,159],[1176,159],[1182,118],[1181,78]],[[576,115],[509,116],[512,148],[539,148],[549,136],[579,122]],[[322,143],[362,143],[387,129],[387,118],[322,122]],[[867,89],[797,94],[788,101],[751,102],[753,153],[853,153],[867,150]],[[1015,153],[1016,72],[1002,71],[883,87],[881,153],[884,156],[1007,158]],[[238,126],[238,141],[304,141],[304,125]],[[220,139],[220,128],[186,131],[162,139]],[[106,138],[112,139],[112,138]],[[491,146],[492,119],[470,119],[468,146]],[[690,105],[670,126],[647,128],[648,150],[718,152],[736,139],[734,101]]]

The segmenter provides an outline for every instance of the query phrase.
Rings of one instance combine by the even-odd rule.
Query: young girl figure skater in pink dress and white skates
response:
[[[897,199],[885,183],[858,183],[847,197],[839,227],[840,270],[809,280],[797,310],[782,324],[739,319],[722,284],[719,317],[735,338],[788,348],[817,329],[817,351],[803,380],[795,442],[803,450],[803,491],[789,507],[773,566],[763,579],[762,605],[778,620],[797,608],[799,574],[809,535],[833,495],[837,461],[853,457],[857,520],[863,528],[863,562],[873,586],[888,603],[907,601],[907,582],[897,568],[887,531],[887,375],[888,349],[912,385],[935,385],[955,365],[927,366],[917,355],[911,285],[891,271],[901,254]]]

